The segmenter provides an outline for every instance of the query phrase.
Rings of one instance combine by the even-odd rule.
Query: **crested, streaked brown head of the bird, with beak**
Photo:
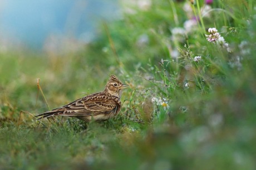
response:
[[[129,85],[122,84],[122,82],[115,75],[110,75],[110,79],[109,81],[107,81],[104,91],[110,95],[120,98],[122,94],[122,89],[125,89],[128,86]]]

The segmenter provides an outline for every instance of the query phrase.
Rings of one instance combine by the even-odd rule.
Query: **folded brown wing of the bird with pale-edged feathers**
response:
[[[76,100],[52,111],[60,111],[57,115],[62,116],[95,116],[99,114],[107,114],[117,106],[121,106],[121,103],[116,97],[95,96]]]

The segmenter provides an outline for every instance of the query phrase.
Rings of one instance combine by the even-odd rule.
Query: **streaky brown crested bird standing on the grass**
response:
[[[37,120],[52,116],[76,117],[82,121],[102,122],[116,116],[121,110],[122,90],[129,87],[115,75],[110,75],[104,91],[77,99],[65,106],[35,116]]]

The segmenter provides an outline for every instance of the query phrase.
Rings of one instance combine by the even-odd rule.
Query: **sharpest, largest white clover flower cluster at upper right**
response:
[[[232,52],[232,50],[228,46],[228,43],[225,42],[225,39],[221,37],[221,35],[218,33],[218,30],[216,28],[209,28],[208,32],[210,33],[210,35],[205,35],[208,42],[211,42],[211,43],[216,42],[219,45],[221,45],[223,48],[227,49],[229,53]]]

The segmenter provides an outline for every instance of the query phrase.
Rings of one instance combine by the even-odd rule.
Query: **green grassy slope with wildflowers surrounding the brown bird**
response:
[[[0,169],[255,169],[253,1],[214,1],[204,14],[203,2],[191,13],[184,3],[125,5],[136,14],[99,26],[81,51],[1,52]],[[201,22],[176,34],[193,16]],[[213,27],[232,52],[206,40]],[[46,101],[104,89],[110,74],[130,85],[114,119],[33,118]]]

